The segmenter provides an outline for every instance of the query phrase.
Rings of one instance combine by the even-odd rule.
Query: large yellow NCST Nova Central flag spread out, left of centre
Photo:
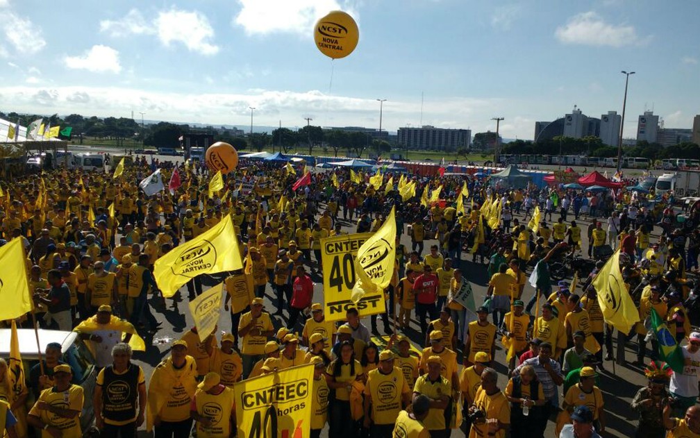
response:
[[[197,275],[234,271],[242,267],[231,215],[226,215],[207,232],[181,243],[155,260],[153,276],[163,296],[168,298]]]

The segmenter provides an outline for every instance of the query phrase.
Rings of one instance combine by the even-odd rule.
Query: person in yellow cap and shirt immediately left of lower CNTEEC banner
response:
[[[221,376],[209,372],[192,397],[190,416],[195,421],[198,438],[228,438],[236,422],[235,396],[232,388],[221,383]],[[216,415],[211,407],[218,407]],[[189,430],[187,431],[189,434]]]

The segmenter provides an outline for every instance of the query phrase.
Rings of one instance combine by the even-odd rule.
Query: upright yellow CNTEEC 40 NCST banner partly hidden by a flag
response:
[[[323,295],[325,320],[345,319],[348,306],[354,305],[360,317],[386,312],[384,292],[366,294],[353,303],[352,288],[356,282],[355,257],[372,233],[346,234],[321,239],[321,260],[323,262]]]

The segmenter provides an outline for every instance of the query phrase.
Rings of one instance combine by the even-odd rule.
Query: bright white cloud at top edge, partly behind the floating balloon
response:
[[[357,20],[356,13],[337,0],[238,0],[240,12],[233,24],[249,35],[276,32],[311,36],[314,23],[331,10],[345,10]]]

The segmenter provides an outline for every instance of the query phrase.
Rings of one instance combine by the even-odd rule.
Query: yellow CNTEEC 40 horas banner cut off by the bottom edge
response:
[[[300,365],[236,383],[236,423],[244,438],[309,438],[314,366]]]

